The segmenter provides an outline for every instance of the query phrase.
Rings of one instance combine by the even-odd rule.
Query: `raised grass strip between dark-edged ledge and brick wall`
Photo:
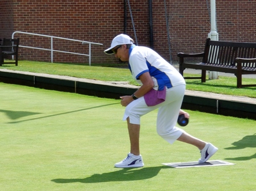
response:
[[[115,66],[115,67],[113,67]],[[116,65],[79,65],[63,63],[43,63],[35,61],[19,61],[19,66],[3,65],[0,68],[9,70],[19,70],[36,73],[49,73],[56,75],[67,75],[86,79],[103,81],[127,81],[138,85],[131,77],[129,69],[125,64]],[[186,70],[185,70],[186,72]],[[191,74],[185,73],[185,76]],[[225,95],[248,96],[256,98],[256,87],[236,88],[236,77],[223,77],[218,80],[207,80],[201,83],[200,80],[186,80],[186,89],[194,91],[205,91],[221,93]],[[256,79],[243,78],[243,84],[256,84]]]

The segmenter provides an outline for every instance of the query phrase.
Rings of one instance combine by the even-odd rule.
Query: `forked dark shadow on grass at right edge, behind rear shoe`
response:
[[[246,135],[243,137],[243,139],[233,142],[232,145],[234,147],[229,147],[225,149],[244,149],[244,148],[256,148],[256,134],[254,135]],[[256,153],[252,156],[248,157],[237,157],[237,158],[225,158],[226,160],[251,160],[253,158],[256,158]]]

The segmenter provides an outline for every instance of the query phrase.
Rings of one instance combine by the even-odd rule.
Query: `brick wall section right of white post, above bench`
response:
[[[220,1],[216,6],[221,40],[256,42],[256,1]]]

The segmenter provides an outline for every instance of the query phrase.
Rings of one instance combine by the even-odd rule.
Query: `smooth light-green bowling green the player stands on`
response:
[[[145,167],[118,169],[129,152],[119,100],[0,83],[0,190],[255,190],[255,120],[197,111],[189,134],[212,142],[211,160],[236,165],[174,169],[198,149],[165,142],[156,114],[141,119]]]

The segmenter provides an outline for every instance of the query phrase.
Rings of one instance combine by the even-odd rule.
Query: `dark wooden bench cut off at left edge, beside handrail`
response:
[[[19,38],[17,39],[3,39],[3,44],[0,45],[0,66],[3,64],[15,64],[18,66],[18,50]],[[4,57],[15,56],[15,61],[4,61]]]

